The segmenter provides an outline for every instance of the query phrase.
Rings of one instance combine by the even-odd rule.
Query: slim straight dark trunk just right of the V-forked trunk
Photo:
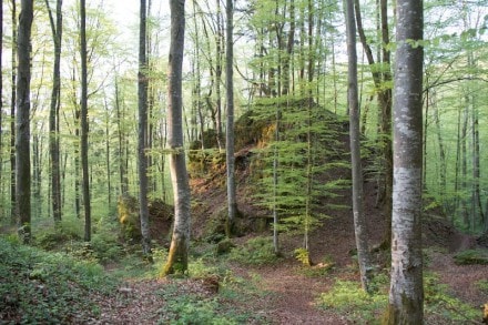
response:
[[[87,6],[80,0],[80,43],[81,43],[81,169],[83,173],[83,206],[84,206],[84,241],[91,241],[91,202],[90,174],[88,165],[88,58],[87,58]]]

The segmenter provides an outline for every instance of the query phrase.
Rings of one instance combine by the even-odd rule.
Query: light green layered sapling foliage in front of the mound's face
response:
[[[278,121],[271,118],[275,115]],[[267,142],[256,151],[254,197],[263,207],[277,211],[281,231],[306,234],[327,217],[324,200],[334,204],[338,190],[349,184],[340,141],[343,123],[319,105],[288,98],[260,100],[253,118],[270,121],[263,129],[270,134],[260,138]],[[325,180],[325,172],[333,176]]]

